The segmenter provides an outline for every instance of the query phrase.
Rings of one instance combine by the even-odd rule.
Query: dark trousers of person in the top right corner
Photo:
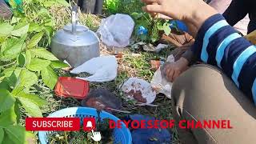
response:
[[[248,34],[256,30],[256,0],[233,0],[226,9],[223,16],[230,26],[234,26],[237,22],[249,14],[250,23],[248,25]]]

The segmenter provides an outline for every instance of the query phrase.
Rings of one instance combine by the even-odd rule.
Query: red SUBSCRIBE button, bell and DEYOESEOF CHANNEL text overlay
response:
[[[83,125],[82,123],[83,122]],[[232,129],[230,120],[204,120],[174,122],[174,120],[110,120],[110,129],[126,126],[132,129],[167,129],[173,128],[175,124],[182,129]],[[29,131],[78,131],[81,126],[83,130],[94,130],[95,118],[26,118],[26,130]]]

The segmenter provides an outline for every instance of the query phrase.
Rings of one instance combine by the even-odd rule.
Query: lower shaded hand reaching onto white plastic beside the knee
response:
[[[174,80],[178,78],[178,76],[182,74],[182,72],[188,69],[188,65],[189,62],[186,60],[186,58],[180,58],[176,62],[168,63],[164,67],[163,73],[165,74],[168,81],[174,82]]]

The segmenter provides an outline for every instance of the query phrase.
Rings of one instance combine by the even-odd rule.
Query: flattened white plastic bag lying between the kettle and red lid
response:
[[[114,80],[118,74],[118,61],[114,56],[102,56],[92,58],[74,70],[72,74],[79,74],[86,72],[93,74],[88,78],[80,78],[89,82],[109,82]]]

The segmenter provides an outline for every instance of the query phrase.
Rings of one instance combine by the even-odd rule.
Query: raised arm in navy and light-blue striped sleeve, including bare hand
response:
[[[203,62],[218,66],[236,86],[256,102],[256,47],[232,26],[222,14],[201,0],[143,0],[144,10],[165,14],[186,22],[195,38],[193,51]],[[175,4],[174,4],[175,3]]]

